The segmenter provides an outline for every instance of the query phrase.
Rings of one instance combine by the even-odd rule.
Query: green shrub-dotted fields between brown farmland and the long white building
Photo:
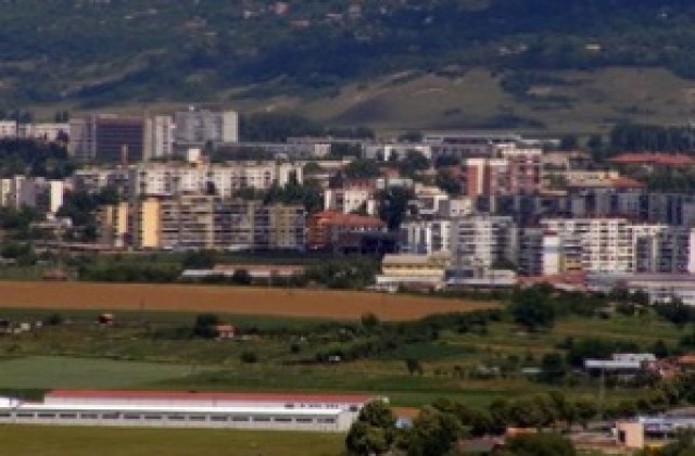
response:
[[[526,332],[506,318],[485,325],[448,316],[368,324],[220,313],[239,337],[218,340],[194,334],[197,313],[118,311],[112,327],[98,325],[98,315],[0,308],[0,318],[12,321],[52,321],[0,335],[0,390],[27,397],[54,388],[370,393],[397,407],[442,396],[486,406],[548,388],[596,397],[598,384],[590,379],[570,376],[548,385],[521,368],[564,353],[568,339],[629,341],[634,350],[650,351],[658,341],[675,347],[690,333],[656,315],[567,316],[549,330]],[[409,369],[408,359],[418,368]],[[500,370],[484,372],[493,367]],[[615,385],[611,397],[645,391]]]

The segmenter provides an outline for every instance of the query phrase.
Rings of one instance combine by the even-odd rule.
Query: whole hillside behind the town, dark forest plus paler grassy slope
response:
[[[0,110],[301,104],[329,122],[416,127],[390,101],[412,87],[433,96],[419,117],[437,127],[554,128],[577,110],[591,128],[670,121],[688,114],[672,88],[695,77],[693,18],[687,0],[2,0]],[[615,67],[644,72],[630,90]]]

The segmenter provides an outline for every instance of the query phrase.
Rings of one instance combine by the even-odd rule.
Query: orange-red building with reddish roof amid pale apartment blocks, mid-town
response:
[[[387,224],[377,217],[343,214],[337,211],[323,211],[308,219],[307,244],[309,249],[330,248],[341,233],[382,232]]]

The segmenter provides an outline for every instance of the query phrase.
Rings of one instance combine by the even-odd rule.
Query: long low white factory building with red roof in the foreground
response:
[[[43,402],[0,398],[0,423],[344,432],[363,395],[53,391]]]

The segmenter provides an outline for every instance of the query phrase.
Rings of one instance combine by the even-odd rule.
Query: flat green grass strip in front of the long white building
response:
[[[0,426],[0,453],[14,456],[340,455],[342,434],[208,429]]]

